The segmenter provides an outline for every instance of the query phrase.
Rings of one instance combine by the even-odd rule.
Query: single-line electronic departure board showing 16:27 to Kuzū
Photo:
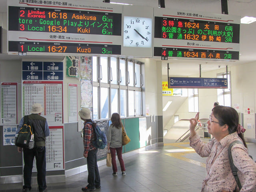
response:
[[[10,52],[120,55],[121,45],[9,41]]]

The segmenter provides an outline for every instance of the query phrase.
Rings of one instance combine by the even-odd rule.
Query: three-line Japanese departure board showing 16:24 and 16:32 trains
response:
[[[239,43],[240,24],[155,17],[154,37],[176,40]]]

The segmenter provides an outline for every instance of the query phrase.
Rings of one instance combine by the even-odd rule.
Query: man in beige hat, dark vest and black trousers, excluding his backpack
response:
[[[39,192],[44,192],[46,190],[46,156],[45,156],[45,138],[49,136],[50,130],[46,121],[46,118],[41,116],[44,111],[41,104],[35,103],[32,106],[31,114],[28,115],[28,122],[34,128],[34,142],[35,146],[32,149],[23,148],[24,157],[24,186],[23,192],[28,192],[31,190],[31,175],[33,168],[34,156],[36,156],[36,168],[37,168],[37,182]],[[24,122],[24,117],[20,120],[18,134],[20,128]],[[18,147],[18,152],[22,152],[22,148]]]

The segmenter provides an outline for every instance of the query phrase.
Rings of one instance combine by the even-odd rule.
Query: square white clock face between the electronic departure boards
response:
[[[152,19],[124,16],[124,46],[151,47]]]

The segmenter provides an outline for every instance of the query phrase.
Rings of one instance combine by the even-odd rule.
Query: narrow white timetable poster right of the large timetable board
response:
[[[68,84],[68,122],[77,122],[77,84]]]

